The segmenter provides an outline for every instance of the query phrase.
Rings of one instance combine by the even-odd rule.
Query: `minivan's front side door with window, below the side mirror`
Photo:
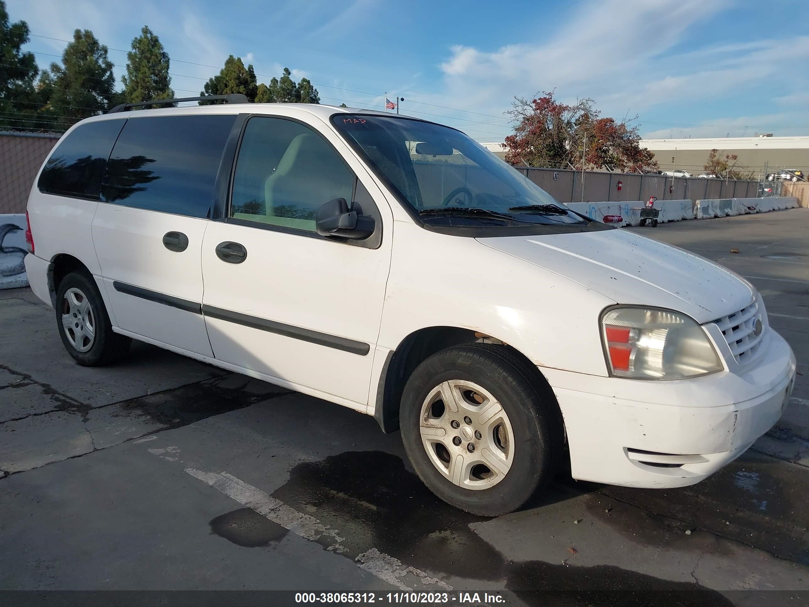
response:
[[[318,236],[317,208],[340,197],[377,215],[375,236],[362,244]],[[392,225],[379,189],[335,134],[251,117],[226,215],[202,242],[214,356],[362,408],[391,255],[389,232],[379,238]]]

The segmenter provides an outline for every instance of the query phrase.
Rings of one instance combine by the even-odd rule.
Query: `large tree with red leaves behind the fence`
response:
[[[506,162],[581,170],[583,161],[588,170],[620,172],[658,168],[654,154],[638,145],[637,125],[629,126],[626,119],[600,118],[594,100],[562,104],[554,93],[543,91],[530,101],[515,97],[507,112],[515,122],[515,132],[503,144]]]

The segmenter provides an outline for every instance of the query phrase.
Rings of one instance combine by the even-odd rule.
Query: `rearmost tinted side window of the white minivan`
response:
[[[98,200],[104,167],[124,123],[104,120],[78,125],[57,144],[37,187],[47,193]]]

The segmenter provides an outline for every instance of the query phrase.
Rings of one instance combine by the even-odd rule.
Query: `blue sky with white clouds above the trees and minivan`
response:
[[[116,78],[148,25],[172,57],[178,95],[201,90],[228,54],[263,80],[288,66],[323,103],[379,107],[467,130],[510,133],[514,96],[555,88],[591,97],[604,115],[637,114],[648,138],[767,132],[809,135],[809,10],[805,2],[382,2],[381,0],[6,0],[32,34],[91,29]],[[32,36],[40,66],[65,43]],[[184,62],[190,63],[183,63]],[[260,78],[262,80],[262,78]],[[370,94],[369,94],[370,93]],[[443,107],[437,107],[443,106]]]

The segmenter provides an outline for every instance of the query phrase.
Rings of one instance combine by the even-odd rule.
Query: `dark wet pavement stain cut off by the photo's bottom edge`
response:
[[[559,607],[732,607],[720,592],[610,565],[576,567],[528,561],[509,567],[506,590],[527,605]]]

